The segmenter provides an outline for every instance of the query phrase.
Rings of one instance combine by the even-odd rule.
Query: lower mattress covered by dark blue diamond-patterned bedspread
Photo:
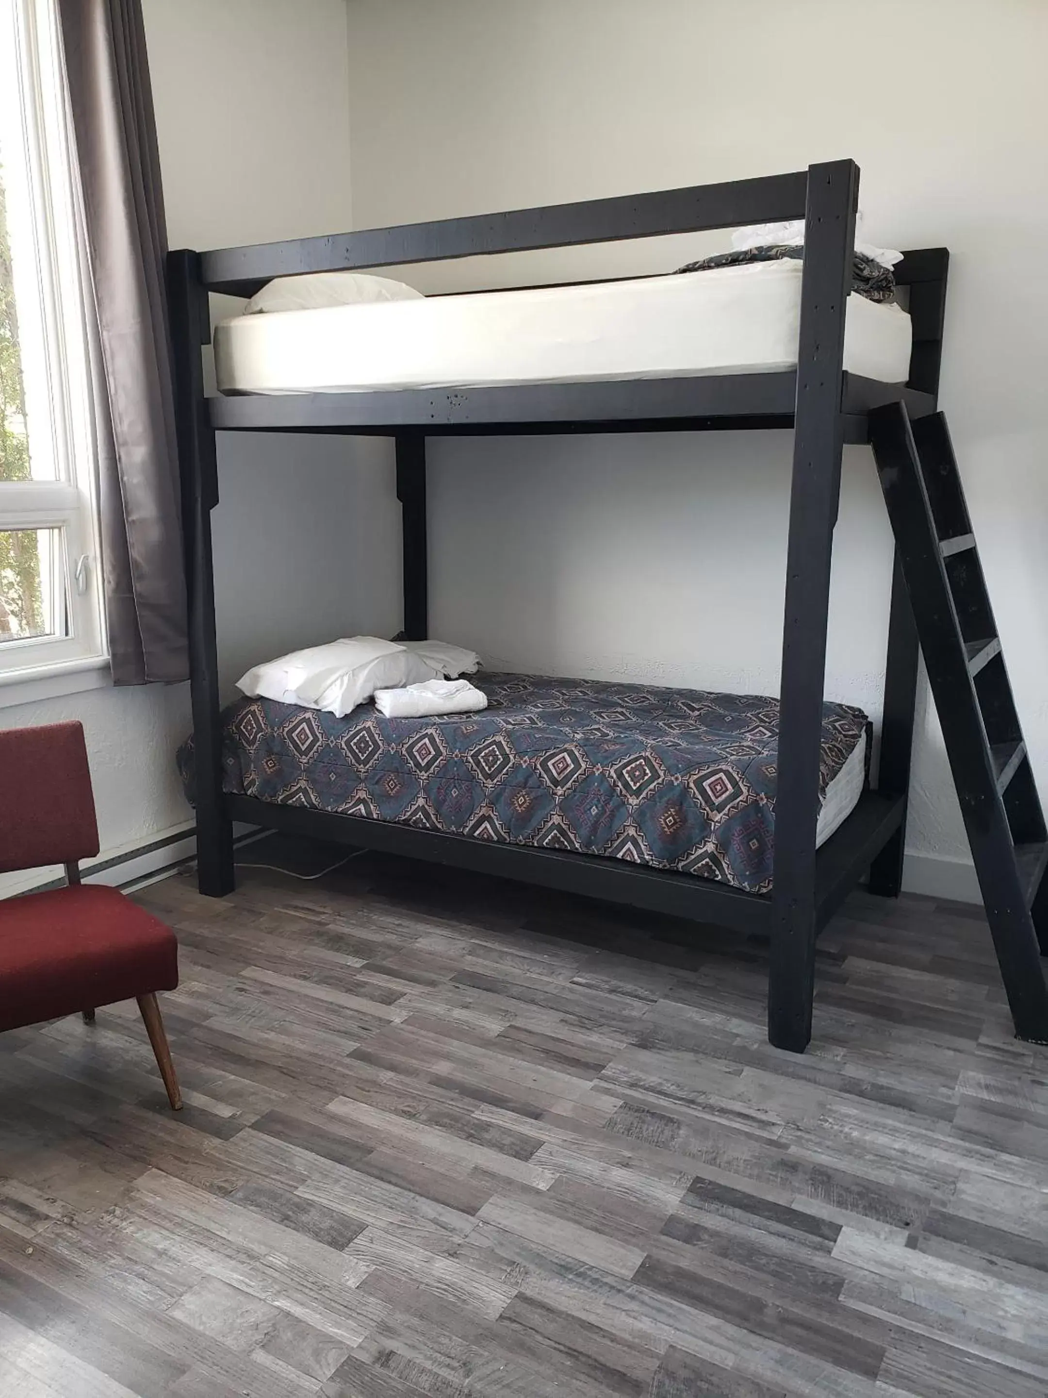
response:
[[[345,719],[240,699],[226,791],[476,840],[632,860],[771,888],[778,700],[597,679],[479,674],[488,709]],[[823,705],[819,843],[859,798],[866,716]],[[193,800],[193,748],[179,749]]]

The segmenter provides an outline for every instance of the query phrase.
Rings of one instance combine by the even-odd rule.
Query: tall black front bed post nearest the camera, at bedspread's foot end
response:
[[[808,171],[794,473],[789,493],[769,1039],[803,1053],[812,1037],[817,931],[815,833],[830,562],[841,484],[844,315],[852,280],[859,172]]]

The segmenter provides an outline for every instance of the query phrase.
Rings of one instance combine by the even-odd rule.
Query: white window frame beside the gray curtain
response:
[[[0,481],[0,528],[60,531],[52,586],[64,591],[67,632],[0,643],[3,706],[108,682],[88,288],[53,0],[0,0],[0,123],[29,450],[46,477]]]

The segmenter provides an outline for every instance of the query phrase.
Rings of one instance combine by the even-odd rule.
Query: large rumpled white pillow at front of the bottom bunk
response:
[[[324,709],[344,719],[376,689],[401,689],[437,678],[437,668],[397,642],[352,636],[254,665],[236,688],[252,699]]]

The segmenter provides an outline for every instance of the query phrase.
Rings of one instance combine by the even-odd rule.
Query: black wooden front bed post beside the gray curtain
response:
[[[183,250],[168,254],[168,305],[189,590],[197,884],[201,893],[222,898],[233,891],[233,826],[225,814],[222,795],[222,720],[211,565],[211,510],[218,505],[218,467],[200,354],[201,345],[211,343],[211,313],[197,253]]]

